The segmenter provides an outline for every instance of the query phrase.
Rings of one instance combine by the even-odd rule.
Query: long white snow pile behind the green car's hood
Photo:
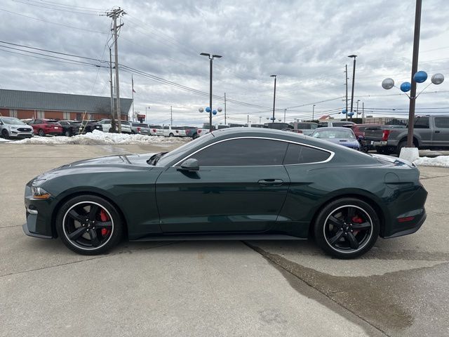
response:
[[[82,144],[82,145],[107,145],[107,144],[182,144],[191,138],[128,135],[126,133],[105,133],[94,130],[85,135],[73,137],[39,137],[27,138],[13,142],[13,144]]]

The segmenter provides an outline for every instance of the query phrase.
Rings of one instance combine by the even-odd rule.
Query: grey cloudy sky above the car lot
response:
[[[423,3],[418,68],[446,76],[448,4]],[[208,106],[209,91],[201,52],[223,56],[213,63],[213,93],[220,96],[213,108],[224,109],[226,93],[228,122],[271,117],[271,74],[277,75],[276,118],[283,119],[285,109],[286,121],[310,118],[313,105],[315,117],[342,110],[345,65],[351,95],[351,54],[358,55],[354,109],[357,100],[359,110],[363,103],[366,114],[377,116],[400,116],[408,108],[405,95],[380,84],[385,77],[398,85],[410,81],[414,0],[2,0],[0,40],[10,44],[0,43],[0,87],[109,95],[109,66],[98,60],[109,60],[111,20],[104,14],[112,6],[126,11],[119,36],[121,97],[131,97],[134,72],[135,110],[147,110],[150,122],[170,123],[170,106],[173,124],[207,120],[198,112]],[[448,82],[427,88],[417,111],[449,112]],[[224,112],[214,118],[223,123]]]

